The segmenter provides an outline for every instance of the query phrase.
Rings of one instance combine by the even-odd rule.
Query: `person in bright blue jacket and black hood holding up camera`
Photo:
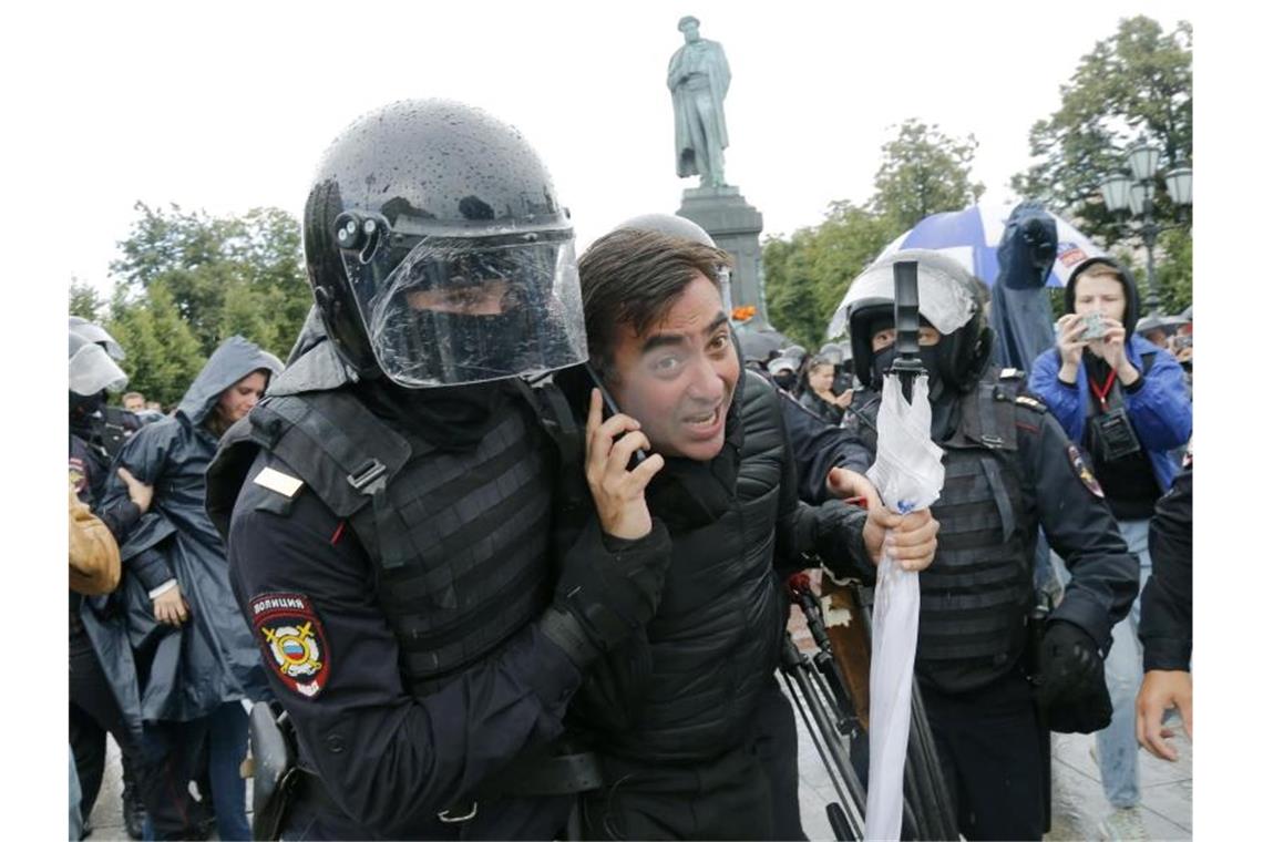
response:
[[[1066,434],[1091,456],[1119,530],[1149,576],[1149,519],[1178,471],[1172,451],[1192,433],[1192,404],[1183,370],[1163,348],[1135,335],[1140,297],[1132,274],[1113,258],[1081,263],[1066,284],[1057,345],[1034,361],[1029,388]],[[1134,698],[1140,685],[1137,637],[1140,602],[1114,627],[1105,663],[1114,706],[1096,735],[1105,795],[1115,812],[1106,836],[1139,827]],[[1125,838],[1135,838],[1125,836]]]

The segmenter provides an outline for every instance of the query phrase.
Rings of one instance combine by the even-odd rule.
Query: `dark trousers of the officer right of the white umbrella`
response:
[[[930,730],[969,839],[1043,836],[1042,731],[1018,672],[967,693],[921,683]]]

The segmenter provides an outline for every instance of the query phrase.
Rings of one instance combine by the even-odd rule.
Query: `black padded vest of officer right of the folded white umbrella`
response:
[[[946,477],[931,506],[938,549],[918,577],[917,674],[949,693],[1009,672],[1026,643],[1038,519],[1018,462],[1014,396],[1015,382],[983,380],[940,442]],[[865,408],[874,422],[879,403]],[[877,452],[875,432],[859,433]]]

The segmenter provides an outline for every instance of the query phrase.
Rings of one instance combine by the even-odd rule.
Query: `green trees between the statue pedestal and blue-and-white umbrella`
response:
[[[763,245],[768,316],[779,331],[818,347],[851,280],[902,232],[931,213],[959,211],[984,186],[970,182],[973,136],[957,140],[936,125],[907,120],[882,146],[883,160],[865,206],[834,202],[825,221],[769,237]]]

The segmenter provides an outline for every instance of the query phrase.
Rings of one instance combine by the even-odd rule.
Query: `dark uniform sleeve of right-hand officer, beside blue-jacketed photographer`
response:
[[[1066,620],[1109,651],[1110,630],[1132,606],[1139,562],[1128,552],[1090,468],[1051,414],[1017,406],[1018,447],[1048,544],[1070,569],[1052,620]]]

